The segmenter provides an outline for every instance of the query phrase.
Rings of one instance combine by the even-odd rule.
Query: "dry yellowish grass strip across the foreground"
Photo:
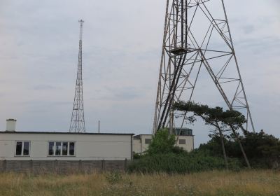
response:
[[[0,195],[280,195],[280,172],[0,174]]]

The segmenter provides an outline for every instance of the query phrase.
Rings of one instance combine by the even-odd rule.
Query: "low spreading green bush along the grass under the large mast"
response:
[[[231,169],[240,169],[238,160],[230,160]],[[223,158],[203,155],[198,153],[190,154],[158,154],[146,155],[145,157],[134,160],[129,167],[129,172],[139,173],[158,173],[186,174],[193,172],[211,171],[214,169],[224,169]]]

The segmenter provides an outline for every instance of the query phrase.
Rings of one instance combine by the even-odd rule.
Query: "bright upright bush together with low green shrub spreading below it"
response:
[[[174,146],[175,143],[174,135],[169,135],[167,129],[159,130],[152,138],[146,155],[137,155],[138,159],[129,165],[128,171],[184,174],[225,168],[223,158],[198,151],[188,153],[183,148]],[[239,170],[239,162],[237,160],[230,160],[230,167]]]

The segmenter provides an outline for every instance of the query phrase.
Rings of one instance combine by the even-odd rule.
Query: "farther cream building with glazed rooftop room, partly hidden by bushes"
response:
[[[181,130],[181,132],[180,132]],[[185,151],[193,151],[194,149],[194,135],[193,130],[188,128],[176,129],[180,135],[176,137],[176,146],[183,148]],[[133,151],[134,153],[144,153],[151,143],[151,134],[139,134],[133,137]]]

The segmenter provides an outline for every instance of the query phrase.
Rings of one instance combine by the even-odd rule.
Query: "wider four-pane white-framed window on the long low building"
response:
[[[49,156],[74,156],[75,142],[74,141],[49,141],[48,155]]]

